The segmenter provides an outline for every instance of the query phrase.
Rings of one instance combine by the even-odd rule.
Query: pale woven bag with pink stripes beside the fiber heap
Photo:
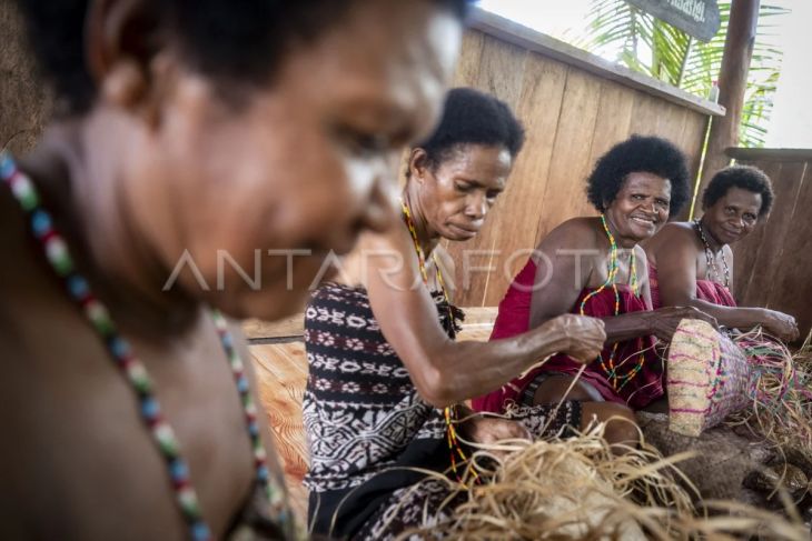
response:
[[[749,403],[750,369],[742,350],[710,323],[684,319],[667,360],[669,428],[699,437]]]

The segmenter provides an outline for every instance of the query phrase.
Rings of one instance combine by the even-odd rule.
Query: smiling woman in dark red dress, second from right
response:
[[[554,355],[474,400],[476,409],[503,411],[511,402],[551,404],[566,398],[582,402],[581,428],[594,418],[633,423],[633,409],[664,394],[652,335],[669,341],[681,319],[710,319],[695,309],[651,311],[646,259],[638,246],[687,200],[683,153],[664,139],[633,136],[597,161],[586,193],[600,216],[567,220],[542,240],[499,303],[491,339],[525,332],[562,313],[581,313],[603,320],[604,350],[576,382],[581,364]],[[636,443],[632,423],[608,422],[606,439]]]

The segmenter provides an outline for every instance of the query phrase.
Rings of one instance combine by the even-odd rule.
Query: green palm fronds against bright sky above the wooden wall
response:
[[[731,0],[720,0],[721,28],[710,42],[703,43],[624,0],[593,0],[586,38],[573,42],[603,57],[614,56],[630,69],[706,97],[722,66],[730,8]],[[764,146],[782,59],[782,52],[771,43],[772,22],[775,16],[788,12],[770,4],[760,8],[740,128],[740,143],[744,147]]]

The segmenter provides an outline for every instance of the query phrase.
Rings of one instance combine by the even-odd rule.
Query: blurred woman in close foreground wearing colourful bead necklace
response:
[[[393,223],[465,2],[18,4],[58,114],[0,157],[0,539],[293,537],[218,310],[295,312],[330,250]],[[218,272],[303,248],[293,288],[285,258],[260,288]]]

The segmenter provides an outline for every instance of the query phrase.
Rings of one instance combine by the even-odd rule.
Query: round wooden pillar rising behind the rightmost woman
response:
[[[722,69],[719,73],[719,102],[727,112],[724,117],[714,117],[711,121],[702,181],[697,191],[696,213],[700,212],[702,191],[707,182],[716,171],[730,164],[730,158],[724,153],[725,149],[739,144],[739,126],[742,121],[744,90],[747,87],[747,71],[755,43],[759,3],[760,0],[731,2],[727,37],[724,41]]]

